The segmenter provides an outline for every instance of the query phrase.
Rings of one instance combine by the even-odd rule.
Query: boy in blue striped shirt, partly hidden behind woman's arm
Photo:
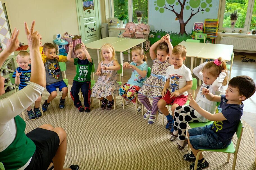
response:
[[[19,85],[19,90],[21,90],[30,83],[30,54],[27,51],[20,51],[17,55],[16,61],[19,64],[19,67],[17,67],[17,69],[14,71],[12,77],[15,78],[15,84]],[[32,111],[31,106],[27,108],[28,117],[32,121],[42,117],[42,113],[39,109],[41,100],[42,96],[39,96],[39,98],[35,101],[34,112]]]

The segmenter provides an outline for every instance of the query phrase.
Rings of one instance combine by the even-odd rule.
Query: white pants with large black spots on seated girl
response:
[[[178,140],[184,142],[186,139],[187,122],[202,122],[194,115],[194,108],[189,105],[176,107],[174,111],[173,134],[178,134]],[[178,142],[178,143],[180,143]]]

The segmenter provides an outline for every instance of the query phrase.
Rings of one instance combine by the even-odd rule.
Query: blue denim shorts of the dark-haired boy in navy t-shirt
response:
[[[222,149],[228,147],[212,130],[212,124],[188,130],[189,141],[194,149]]]

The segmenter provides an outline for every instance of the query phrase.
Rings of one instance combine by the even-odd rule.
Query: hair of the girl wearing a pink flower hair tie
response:
[[[227,71],[227,67],[226,67],[226,61],[223,60],[221,57],[218,58],[218,61],[221,62],[220,65],[216,65],[214,63],[214,61],[210,61],[208,62],[205,67],[203,67],[203,71],[207,70],[209,72],[209,74],[215,76],[215,77],[219,77],[219,74],[221,73],[221,70],[226,70]],[[226,76],[225,79],[222,82],[222,85],[225,86],[228,83],[228,77]]]

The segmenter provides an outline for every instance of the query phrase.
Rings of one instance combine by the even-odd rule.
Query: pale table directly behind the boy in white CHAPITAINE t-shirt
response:
[[[194,43],[194,42],[186,42],[182,41],[179,45],[183,45],[187,49],[186,57],[191,57],[191,64],[190,64],[190,71],[193,74],[193,65],[194,65],[194,58],[198,56],[200,51],[204,48],[206,43]]]

